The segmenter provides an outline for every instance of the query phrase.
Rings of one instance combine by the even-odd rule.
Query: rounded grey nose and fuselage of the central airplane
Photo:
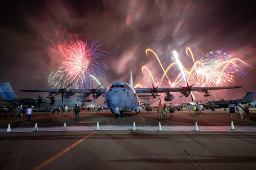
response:
[[[125,82],[112,83],[105,93],[105,103],[116,115],[123,112],[140,112],[139,98],[131,85]]]

